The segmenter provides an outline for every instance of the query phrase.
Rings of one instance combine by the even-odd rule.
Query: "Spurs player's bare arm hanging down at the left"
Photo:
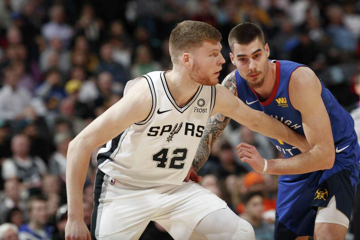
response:
[[[133,81],[137,82],[120,101],[91,122],[69,144],[66,162],[67,240],[90,239],[83,220],[82,191],[91,151],[119,135],[131,124],[144,120],[150,113],[152,95],[147,80]],[[132,83],[129,82],[127,87]]]

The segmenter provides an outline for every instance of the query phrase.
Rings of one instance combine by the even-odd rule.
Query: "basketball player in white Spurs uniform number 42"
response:
[[[172,71],[129,81],[124,97],[71,141],[67,240],[139,239],[149,221],[175,240],[255,239],[252,226],[225,201],[195,182],[183,182],[208,117],[221,112],[302,151],[309,146],[303,136],[217,85],[225,62],[220,40],[209,24],[179,23],[170,35]],[[106,142],[98,153],[90,234],[82,188],[91,151]]]

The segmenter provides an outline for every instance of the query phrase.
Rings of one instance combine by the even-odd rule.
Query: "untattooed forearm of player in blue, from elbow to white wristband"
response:
[[[315,146],[311,150],[291,158],[267,160],[266,173],[291,175],[329,169],[334,163],[334,159],[330,155]]]

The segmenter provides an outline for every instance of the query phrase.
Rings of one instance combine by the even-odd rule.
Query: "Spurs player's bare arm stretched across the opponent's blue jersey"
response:
[[[310,149],[310,145],[304,136],[296,133],[277,119],[248,107],[221,85],[216,86],[214,110],[246,125],[252,131],[296,146],[302,152]]]

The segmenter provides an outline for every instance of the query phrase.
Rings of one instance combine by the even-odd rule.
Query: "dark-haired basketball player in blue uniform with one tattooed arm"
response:
[[[254,146],[237,146],[239,158],[257,172],[281,175],[275,239],[345,239],[359,182],[360,146],[350,114],[310,67],[269,60],[269,46],[255,24],[234,27],[229,46],[237,69],[222,85],[249,107],[305,135],[312,146],[301,153],[288,142],[270,138],[285,156],[271,160],[263,159]],[[229,120],[220,113],[209,118],[193,162],[195,172]]]

